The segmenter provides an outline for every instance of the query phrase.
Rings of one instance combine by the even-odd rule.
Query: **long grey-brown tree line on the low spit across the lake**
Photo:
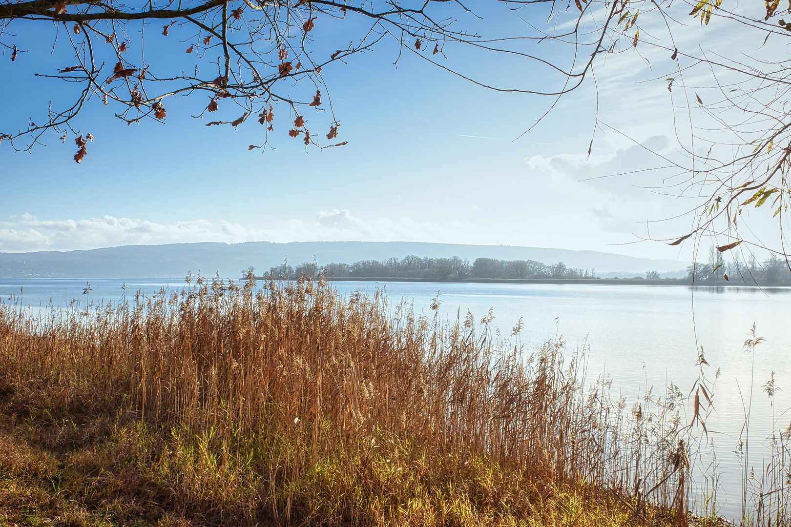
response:
[[[242,274],[247,276],[249,269]],[[477,258],[472,264],[469,260],[453,256],[451,258],[421,258],[413,254],[402,258],[386,260],[360,260],[351,264],[329,263],[317,265],[316,262],[303,262],[296,267],[283,263],[269,270],[276,280],[299,277],[327,278],[432,278],[436,280],[461,280],[464,278],[596,278],[595,269],[574,269],[563,262],[545,265],[534,260],[496,260]]]

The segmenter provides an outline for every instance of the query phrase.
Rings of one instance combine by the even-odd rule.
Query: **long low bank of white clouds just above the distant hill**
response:
[[[252,241],[418,241],[463,243],[475,225],[448,221],[443,224],[375,218],[363,220],[350,210],[320,211],[315,220],[285,220],[262,228],[220,220],[176,221],[159,224],[149,220],[102,216],[87,220],[39,220],[23,214],[0,221],[0,251],[94,249],[133,244]]]

